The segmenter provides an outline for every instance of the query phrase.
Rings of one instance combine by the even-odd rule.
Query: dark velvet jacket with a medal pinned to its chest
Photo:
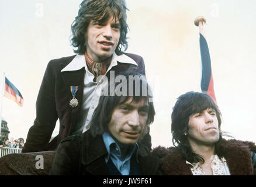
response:
[[[136,67],[137,72],[145,75],[143,58],[136,54],[125,54],[136,61],[138,66],[117,61],[117,65],[111,69],[115,71],[115,75],[133,67]],[[47,65],[37,96],[36,119],[27,134],[26,143],[22,150],[23,153],[56,150],[60,141],[74,132],[74,126],[79,119],[78,115],[81,105],[78,105],[76,108],[70,107],[69,102],[72,99],[70,86],[79,86],[79,91],[76,93],[75,98],[78,101],[82,101],[85,68],[77,71],[61,72],[74,57],[70,56],[51,60]],[[106,76],[109,78],[109,72]],[[57,119],[60,120],[59,134],[49,143]],[[149,134],[147,136],[146,140],[148,142],[146,144],[151,148],[151,137]]]

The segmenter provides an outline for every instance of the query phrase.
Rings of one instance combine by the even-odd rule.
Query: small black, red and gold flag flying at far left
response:
[[[6,98],[9,98],[16,103],[18,103],[19,106],[23,105],[23,97],[19,90],[15,87],[15,85],[12,84],[8,80],[8,78],[5,77],[5,96]]]

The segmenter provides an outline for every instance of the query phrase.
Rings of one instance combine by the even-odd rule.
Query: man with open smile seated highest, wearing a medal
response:
[[[109,77],[136,67],[145,74],[143,58],[127,49],[124,0],[84,0],[71,25],[75,56],[51,60],[36,102],[36,119],[27,134],[23,153],[56,150],[63,138],[89,129],[98,105],[101,75]],[[56,121],[59,134],[50,141]],[[151,149],[151,137],[147,135]],[[49,143],[50,141],[50,143]]]

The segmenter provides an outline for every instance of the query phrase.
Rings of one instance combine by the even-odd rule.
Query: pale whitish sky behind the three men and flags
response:
[[[2,116],[11,131],[9,138],[26,138],[33,125],[47,63],[74,54],[68,39],[80,2],[0,0],[0,72],[5,72],[24,98],[22,107],[4,98]],[[223,115],[222,130],[237,139],[255,142],[256,1],[126,2],[130,9],[127,52],[144,58],[154,89],[153,147],[172,145],[171,112],[178,96],[200,91],[199,30],[193,20],[201,15],[207,23],[206,40]]]

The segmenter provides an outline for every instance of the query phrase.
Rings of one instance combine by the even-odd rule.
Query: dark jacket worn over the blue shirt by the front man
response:
[[[105,162],[108,154],[102,136],[92,137],[89,131],[69,136],[57,148],[50,175],[110,175]],[[139,147],[142,175],[158,174],[158,158],[145,154]]]

